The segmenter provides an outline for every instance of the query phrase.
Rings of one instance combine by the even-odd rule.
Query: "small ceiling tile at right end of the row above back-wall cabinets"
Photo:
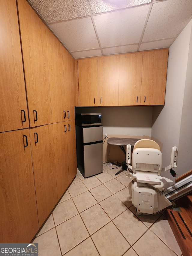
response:
[[[173,43],[174,39],[175,38],[170,38],[170,39],[165,39],[160,41],[141,43],[139,51],[158,49],[158,48],[169,48]]]

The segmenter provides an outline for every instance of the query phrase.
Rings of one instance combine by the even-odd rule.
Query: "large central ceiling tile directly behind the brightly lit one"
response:
[[[149,5],[94,16],[102,47],[135,44],[140,40]]]

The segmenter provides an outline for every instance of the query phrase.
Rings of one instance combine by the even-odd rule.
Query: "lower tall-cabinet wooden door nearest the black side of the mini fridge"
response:
[[[75,120],[66,122],[66,125],[67,151],[69,163],[69,183],[71,183],[75,175],[77,174]]]

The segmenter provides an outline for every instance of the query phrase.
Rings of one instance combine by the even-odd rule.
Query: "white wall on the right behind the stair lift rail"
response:
[[[178,147],[177,177],[191,170],[184,150],[191,140],[191,54],[192,21],[184,28],[169,50],[165,106],[153,108],[152,139],[163,144],[163,167],[170,164],[172,146]],[[190,51],[189,51],[190,50]],[[188,59],[190,59],[188,61]],[[188,102],[188,103],[187,103]],[[187,105],[189,104],[189,105]],[[186,116],[187,115],[187,116]],[[188,148],[187,146],[187,148]],[[182,157],[181,157],[182,156]],[[185,167],[184,161],[187,162]],[[173,178],[170,174],[164,174]]]

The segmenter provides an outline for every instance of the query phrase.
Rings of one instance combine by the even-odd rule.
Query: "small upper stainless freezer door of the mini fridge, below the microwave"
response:
[[[103,140],[103,126],[83,127],[83,143]]]

